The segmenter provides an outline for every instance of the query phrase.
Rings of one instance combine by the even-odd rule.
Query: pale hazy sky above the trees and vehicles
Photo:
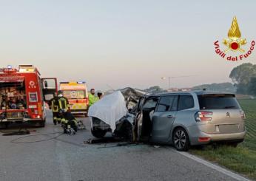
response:
[[[33,64],[42,77],[98,90],[231,81],[215,53],[238,18],[246,51],[256,40],[256,1],[0,0],[0,66]],[[240,55],[240,52],[229,52]]]

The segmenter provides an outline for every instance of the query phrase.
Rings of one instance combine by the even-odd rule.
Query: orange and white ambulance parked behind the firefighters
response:
[[[89,99],[85,81],[61,82],[59,90],[68,99],[73,114],[87,113]]]

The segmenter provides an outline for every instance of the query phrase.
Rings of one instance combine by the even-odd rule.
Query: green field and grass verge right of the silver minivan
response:
[[[246,139],[237,148],[219,146],[192,148],[192,154],[225,166],[256,180],[256,100],[238,100],[246,112]]]

